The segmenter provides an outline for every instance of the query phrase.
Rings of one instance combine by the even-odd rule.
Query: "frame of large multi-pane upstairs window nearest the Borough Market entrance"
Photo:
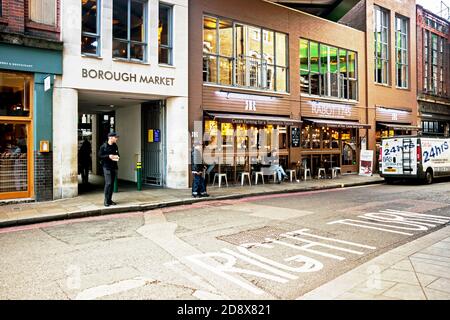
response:
[[[216,72],[217,72],[217,79],[215,79],[215,81],[203,81],[203,83],[205,84],[212,84],[212,85],[222,85],[222,86],[231,86],[231,87],[235,87],[235,88],[242,88],[242,89],[253,89],[253,90],[260,90],[260,91],[265,91],[265,92],[274,92],[274,93],[289,93],[289,72],[290,72],[290,66],[289,66],[289,35],[287,33],[284,32],[279,32],[270,28],[265,28],[265,27],[261,27],[261,26],[256,26],[253,24],[249,24],[249,23],[244,23],[232,18],[226,18],[226,17],[222,17],[222,16],[217,16],[217,15],[212,15],[212,14],[207,14],[204,13],[203,14],[203,26],[202,26],[202,43],[204,43],[205,39],[204,39],[204,21],[205,18],[210,18],[210,19],[215,19],[216,20],[216,48],[215,48],[215,52],[214,53],[205,53],[203,52],[203,59],[205,57],[214,57],[216,59],[215,64],[216,64]],[[226,20],[226,21],[230,21],[232,23],[232,55],[231,56],[225,56],[223,54],[221,54],[221,50],[220,50],[220,21],[221,20]],[[257,41],[259,41],[260,43],[260,53],[261,53],[261,57],[257,58],[258,60],[258,65],[257,65],[257,73],[259,73],[259,75],[257,75],[257,79],[256,79],[256,86],[251,86],[251,85],[239,85],[238,81],[237,81],[237,75],[238,75],[238,55],[237,55],[237,40],[236,40],[236,30],[237,30],[237,26],[240,26],[242,28],[245,27],[251,27],[254,29],[258,29],[259,30],[259,39]],[[274,46],[274,62],[272,64],[270,63],[264,63],[263,60],[263,50],[264,50],[264,34],[265,32],[268,33],[272,33],[273,34],[273,46]],[[285,51],[286,51],[286,66],[282,66],[277,64],[277,54],[276,54],[276,48],[277,48],[277,34],[282,34],[285,36]],[[249,56],[244,56],[244,58],[252,58]],[[232,79],[231,79],[231,84],[222,84],[220,82],[220,60],[221,59],[227,59],[231,64],[232,64]],[[263,76],[263,72],[267,72],[267,70],[270,69],[270,67],[273,68],[273,90],[268,89],[267,88],[267,75],[264,78]],[[278,75],[277,75],[277,69],[278,68],[282,68],[286,70],[286,79],[284,79],[285,83],[286,83],[286,90],[285,91],[278,91],[277,89],[277,80],[278,80]],[[206,71],[207,72],[207,71]],[[203,70],[203,73],[205,73],[205,70]],[[245,71],[245,77],[246,79],[250,77],[250,71]],[[206,77],[206,79],[208,79],[208,76]],[[266,81],[263,81],[264,79],[266,79]],[[248,81],[250,82],[250,81]],[[264,83],[263,83],[264,82]],[[247,81],[246,81],[247,83]]]

